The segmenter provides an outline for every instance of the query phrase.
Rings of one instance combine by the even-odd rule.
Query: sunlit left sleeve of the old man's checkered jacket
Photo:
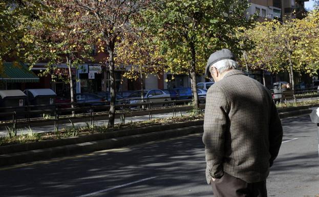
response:
[[[206,95],[204,134],[206,171],[212,178],[223,176],[224,141],[228,129],[228,103],[222,90],[212,85]]]

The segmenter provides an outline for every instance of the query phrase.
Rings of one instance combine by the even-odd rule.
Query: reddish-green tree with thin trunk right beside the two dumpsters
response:
[[[77,68],[87,60],[90,54],[90,35],[83,32],[76,24],[70,23],[77,17],[75,12],[63,12],[61,7],[67,6],[59,1],[46,1],[49,11],[43,12],[28,31],[29,43],[34,50],[26,53],[26,60],[31,63],[47,60],[46,70],[41,75],[51,75],[70,84],[71,102],[74,102],[74,87],[71,68]],[[60,72],[58,67],[65,62],[68,76]],[[73,107],[73,104],[72,104]],[[72,113],[74,115],[74,112]]]

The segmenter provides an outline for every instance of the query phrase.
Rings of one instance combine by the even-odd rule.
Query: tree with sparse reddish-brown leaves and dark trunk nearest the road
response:
[[[111,78],[111,107],[108,126],[114,126],[115,118],[115,73],[114,51],[116,42],[122,39],[124,33],[131,31],[130,20],[144,9],[150,1],[144,0],[75,0],[62,1],[62,12],[75,13],[76,17],[70,23],[88,32],[98,43],[102,52],[109,54],[102,63],[109,67]]]

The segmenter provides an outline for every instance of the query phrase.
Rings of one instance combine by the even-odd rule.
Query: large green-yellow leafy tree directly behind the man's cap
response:
[[[166,0],[143,13],[142,25],[161,40],[166,71],[191,76],[196,110],[196,73],[203,73],[211,52],[222,48],[240,51],[233,33],[236,27],[250,25],[245,17],[248,6],[247,1],[237,0]]]

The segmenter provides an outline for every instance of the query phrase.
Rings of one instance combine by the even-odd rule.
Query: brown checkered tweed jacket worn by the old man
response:
[[[266,87],[241,71],[229,71],[206,95],[207,183],[224,172],[247,183],[266,180],[282,136],[278,111]]]

